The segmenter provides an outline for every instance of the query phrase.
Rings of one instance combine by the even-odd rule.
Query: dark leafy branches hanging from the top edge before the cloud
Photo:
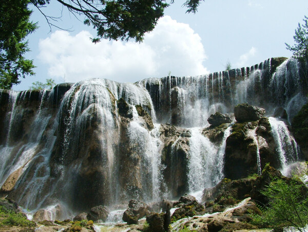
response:
[[[43,14],[42,7],[50,0],[30,0]],[[85,16],[84,24],[97,29],[97,38],[128,40],[137,42],[143,40],[146,32],[152,31],[159,18],[163,16],[164,9],[169,6],[165,0],[56,0],[66,7],[75,16]],[[184,3],[186,12],[197,12],[201,1],[187,0]],[[174,0],[171,1],[171,4]],[[54,25],[56,17],[44,14],[50,28]]]

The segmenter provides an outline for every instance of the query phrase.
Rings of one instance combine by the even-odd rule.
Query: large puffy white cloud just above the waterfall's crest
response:
[[[102,40],[90,41],[88,31],[71,35],[55,31],[40,41],[40,58],[52,78],[77,82],[88,78],[107,78],[135,82],[148,77],[202,75],[206,59],[201,38],[188,24],[170,16],[160,19],[145,35],[143,43]]]

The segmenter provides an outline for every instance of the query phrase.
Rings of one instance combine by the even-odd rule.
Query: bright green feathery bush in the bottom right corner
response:
[[[261,191],[268,205],[261,208],[262,215],[254,215],[254,224],[262,227],[281,228],[293,226],[299,231],[308,223],[308,199],[304,185],[292,180],[273,180]]]

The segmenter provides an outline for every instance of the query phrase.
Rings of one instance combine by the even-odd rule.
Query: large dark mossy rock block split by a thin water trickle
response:
[[[225,177],[236,180],[257,173],[257,149],[259,149],[261,169],[266,163],[280,168],[275,140],[268,119],[261,118],[259,121],[235,123],[232,133],[226,140]]]

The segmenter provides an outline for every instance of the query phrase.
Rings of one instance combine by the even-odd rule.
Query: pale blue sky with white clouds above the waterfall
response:
[[[168,1],[167,1],[168,2]],[[27,90],[35,81],[78,82],[106,78],[136,82],[145,78],[197,76],[258,64],[271,57],[291,57],[298,23],[308,15],[307,0],[205,0],[198,12],[185,13],[176,0],[142,43],[101,40],[93,44],[92,27],[83,25],[56,1],[42,9],[61,16],[50,28],[35,8],[31,20],[39,28],[28,36],[35,76],[21,79],[13,90]]]

